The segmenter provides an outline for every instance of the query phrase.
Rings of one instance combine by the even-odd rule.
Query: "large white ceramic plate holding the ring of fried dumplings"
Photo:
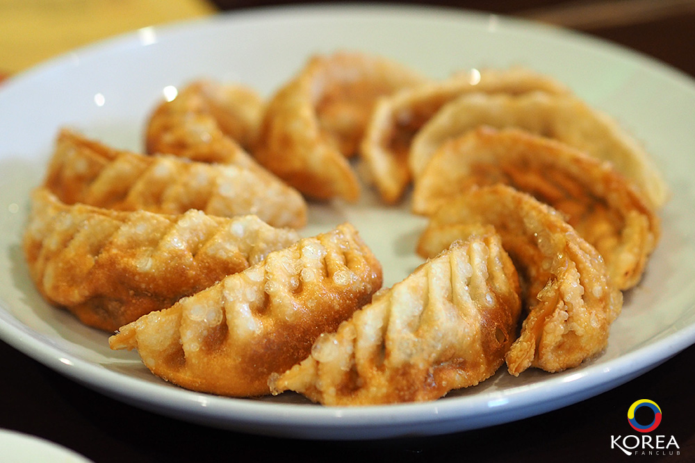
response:
[[[20,249],[28,193],[40,183],[60,126],[140,149],[145,118],[167,85],[208,76],[270,95],[311,53],[379,53],[430,76],[523,65],[570,85],[653,153],[673,192],[644,281],[626,294],[607,351],[564,373],[500,371],[432,403],[334,408],[298,396],[245,400],[197,394],[154,378],[133,352],[42,301]],[[0,90],[0,336],[76,381],[148,410],[285,437],[366,439],[491,426],[594,396],[695,342],[695,85],[659,63],[581,35],[503,17],[432,8],[266,9],[147,28],[67,54]],[[368,195],[367,195],[368,196]],[[402,208],[313,207],[306,235],[352,221],[384,264],[385,285],[416,267],[424,223]]]

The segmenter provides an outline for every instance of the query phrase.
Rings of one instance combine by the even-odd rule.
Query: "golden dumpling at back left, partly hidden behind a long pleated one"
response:
[[[258,167],[248,151],[256,144],[264,110],[265,101],[249,87],[193,81],[152,112],[146,151]]]

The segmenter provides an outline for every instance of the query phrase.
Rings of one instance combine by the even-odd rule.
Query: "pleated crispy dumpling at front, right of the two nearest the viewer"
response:
[[[430,401],[504,363],[521,313],[514,264],[493,233],[455,242],[274,375],[274,394],[324,405]]]

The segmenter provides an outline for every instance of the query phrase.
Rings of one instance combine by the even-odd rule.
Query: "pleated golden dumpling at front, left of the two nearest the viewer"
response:
[[[201,392],[270,394],[271,373],[367,303],[382,269],[350,224],[270,253],[171,308],[130,323],[111,348],[137,348],[156,376]]]

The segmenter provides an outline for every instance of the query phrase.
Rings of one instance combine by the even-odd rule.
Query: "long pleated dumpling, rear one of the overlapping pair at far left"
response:
[[[265,169],[208,164],[111,149],[63,130],[44,184],[65,203],[232,217],[254,214],[272,226],[302,227],[302,195]]]

